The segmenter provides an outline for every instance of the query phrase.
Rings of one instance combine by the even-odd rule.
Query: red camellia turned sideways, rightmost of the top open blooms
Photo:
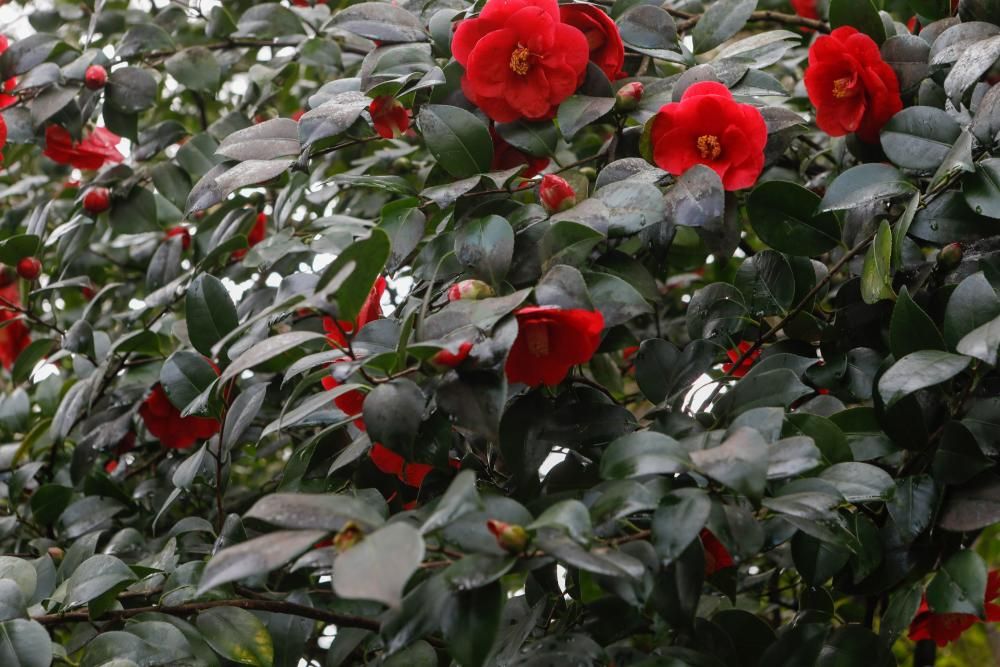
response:
[[[854,132],[875,143],[882,126],[903,108],[896,73],[878,45],[850,26],[816,38],[805,85],[816,124],[832,137]]]

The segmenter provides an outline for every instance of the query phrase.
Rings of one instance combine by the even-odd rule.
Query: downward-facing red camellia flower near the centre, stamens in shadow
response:
[[[601,342],[597,311],[527,306],[518,310],[517,338],[507,357],[507,379],[530,387],[557,385],[570,368],[586,363]]]

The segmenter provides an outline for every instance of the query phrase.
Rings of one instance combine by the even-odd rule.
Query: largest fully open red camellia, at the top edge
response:
[[[488,0],[458,24],[451,50],[465,68],[465,96],[501,123],[551,118],[583,82],[590,57],[556,0]]]

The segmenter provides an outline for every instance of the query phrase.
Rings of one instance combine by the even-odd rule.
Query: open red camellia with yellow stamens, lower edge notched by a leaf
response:
[[[760,111],[733,100],[721,83],[701,81],[653,120],[653,161],[674,176],[696,164],[713,169],[726,190],[748,188],[764,168],[767,125]]]

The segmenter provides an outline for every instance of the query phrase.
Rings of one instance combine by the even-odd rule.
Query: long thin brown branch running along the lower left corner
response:
[[[172,606],[151,605],[148,607],[132,607],[131,609],[109,611],[101,616],[100,619],[91,619],[90,612],[86,609],[81,609],[78,611],[68,611],[60,614],[43,614],[41,616],[34,616],[31,620],[41,623],[42,625],[82,623],[92,620],[121,621],[150,612],[168,614],[170,616],[190,616],[200,611],[214,609],[216,607],[237,607],[239,609],[254,611],[270,611],[276,614],[290,614],[292,616],[311,618],[315,621],[331,623],[346,628],[363,628],[365,630],[371,630],[372,632],[378,632],[379,629],[379,622],[374,618],[340,614],[333,611],[327,611],[325,609],[317,609],[315,607],[307,607],[302,604],[295,604],[294,602],[284,602],[282,600],[206,600],[204,602],[189,602],[187,604]]]

